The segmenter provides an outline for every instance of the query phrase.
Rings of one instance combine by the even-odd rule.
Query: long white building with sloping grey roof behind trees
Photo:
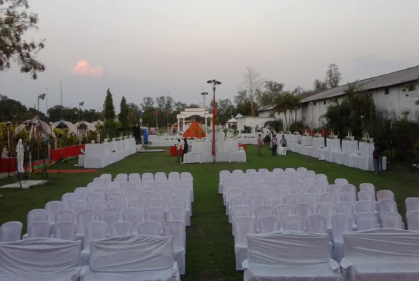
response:
[[[384,118],[397,119],[402,112],[409,112],[408,118],[419,120],[419,106],[415,101],[419,100],[419,85],[414,91],[402,91],[407,84],[414,84],[419,81],[419,65],[406,68],[389,74],[358,80],[357,86],[365,93],[370,93],[373,97],[377,115]],[[327,112],[327,106],[332,100],[338,103],[344,98],[344,91],[349,84],[327,89],[313,96],[308,96],[301,100],[301,108],[293,113],[293,120],[302,120],[304,124],[310,126],[313,121],[313,128],[318,128],[326,124],[322,117]],[[259,116],[270,117],[273,115],[273,107],[263,107],[258,110]],[[275,117],[278,115],[275,113]],[[287,113],[289,118],[289,114]],[[284,115],[280,119],[284,121]],[[285,122],[284,122],[285,124]]]

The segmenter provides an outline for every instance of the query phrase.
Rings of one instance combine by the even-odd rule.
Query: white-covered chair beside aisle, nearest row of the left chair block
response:
[[[179,274],[185,274],[185,223],[182,221],[166,221],[163,226],[163,236],[173,237],[175,261]]]

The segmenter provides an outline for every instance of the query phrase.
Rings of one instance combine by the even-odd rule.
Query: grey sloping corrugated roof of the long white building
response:
[[[388,86],[394,86],[398,84],[404,84],[419,79],[419,65],[415,67],[406,68],[405,70],[399,70],[396,72],[383,74],[377,77],[371,77],[368,79],[359,80],[357,85],[363,90],[371,90],[377,88],[383,88]],[[347,89],[349,84],[337,86],[332,89],[320,92],[314,96],[304,98],[301,103],[307,103],[314,100],[324,100],[326,98],[333,98],[336,96],[344,95],[344,91]]]

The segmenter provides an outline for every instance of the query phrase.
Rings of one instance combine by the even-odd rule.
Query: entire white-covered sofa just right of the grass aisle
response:
[[[244,280],[342,280],[339,265],[330,259],[327,235],[280,231],[248,240]]]

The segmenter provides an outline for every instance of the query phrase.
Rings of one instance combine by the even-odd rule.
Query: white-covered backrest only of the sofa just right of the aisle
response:
[[[327,235],[299,231],[249,234],[247,237],[249,263],[265,265],[301,265],[329,263],[330,248]]]

